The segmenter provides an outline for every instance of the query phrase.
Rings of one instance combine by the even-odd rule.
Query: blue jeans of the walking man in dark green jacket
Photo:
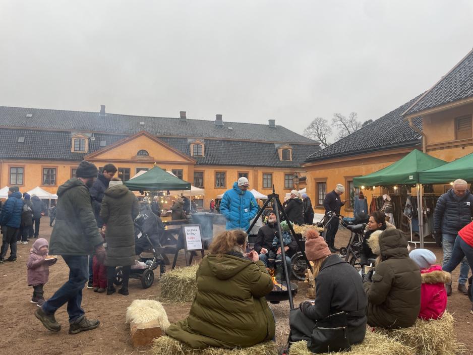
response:
[[[87,282],[87,256],[63,255],[69,266],[69,280],[47,300],[42,309],[46,314],[54,314],[58,308],[68,304],[69,323],[76,323],[84,316],[81,308],[82,289]]]

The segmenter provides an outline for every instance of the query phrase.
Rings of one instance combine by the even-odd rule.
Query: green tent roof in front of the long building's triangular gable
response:
[[[153,167],[133,179],[126,181],[125,185],[134,191],[144,190],[191,190],[191,183],[179,179],[159,166]]]

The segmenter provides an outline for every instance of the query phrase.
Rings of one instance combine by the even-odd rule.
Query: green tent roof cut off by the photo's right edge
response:
[[[445,184],[456,179],[471,182],[473,181],[473,153],[442,166],[422,171],[419,176],[423,184]]]

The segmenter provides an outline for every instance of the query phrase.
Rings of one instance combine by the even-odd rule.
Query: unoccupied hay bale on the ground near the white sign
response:
[[[197,293],[196,272],[199,265],[174,269],[161,275],[161,300],[191,302]]]

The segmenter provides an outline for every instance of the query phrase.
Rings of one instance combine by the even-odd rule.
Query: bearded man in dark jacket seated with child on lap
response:
[[[269,268],[271,265],[269,264],[269,253],[272,251],[273,248],[273,241],[276,238],[276,232],[278,231],[278,226],[277,226],[277,219],[276,219],[276,213],[273,210],[267,211],[266,212],[267,216],[267,223],[263,227],[258,230],[258,234],[256,236],[255,240],[255,245],[254,249],[255,251],[259,254],[259,259],[263,262],[263,264]],[[287,223],[285,221],[281,222],[281,229],[284,225],[287,226]],[[290,235],[290,234],[289,234]],[[284,243],[284,252],[286,255],[286,265],[287,265],[287,270],[290,270],[291,268],[291,261],[290,258],[292,255],[297,253],[298,247],[297,247],[297,242],[294,240],[294,237],[290,235],[291,241],[289,244]],[[277,239],[279,240],[279,236],[277,236]],[[275,277],[277,280],[282,279],[283,275],[283,270],[282,270],[282,254],[281,254],[281,247],[276,247],[276,251],[274,254],[274,260],[276,264],[276,274]]]

